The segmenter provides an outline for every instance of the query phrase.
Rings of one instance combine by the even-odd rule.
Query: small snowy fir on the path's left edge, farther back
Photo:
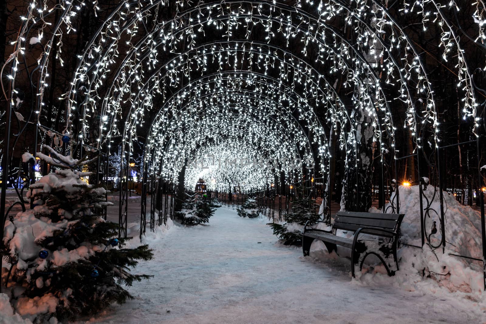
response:
[[[182,209],[175,213],[180,222],[185,225],[197,225],[209,222],[209,217],[215,211],[211,206],[211,200],[208,197],[201,196],[198,192],[187,195],[188,198],[182,203]]]

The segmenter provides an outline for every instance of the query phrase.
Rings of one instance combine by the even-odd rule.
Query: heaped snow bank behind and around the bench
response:
[[[468,299],[477,301],[481,307],[486,307],[486,298],[483,294],[482,262],[467,258],[451,256],[458,254],[482,258],[481,250],[481,217],[469,206],[460,205],[453,195],[444,192],[446,249],[442,253],[440,232],[440,203],[439,192],[432,186],[424,190],[426,198],[423,199],[423,208],[432,208],[429,216],[425,218],[427,236],[432,231],[433,222],[436,222],[437,233],[430,236],[432,246],[426,244],[423,250],[415,247],[401,245],[398,250],[399,271],[395,276],[388,277],[382,265],[369,265],[373,261],[368,257],[363,266],[362,273],[356,273],[359,284],[396,285],[408,291],[425,290],[434,293],[456,293]],[[395,199],[395,194],[391,197]],[[400,242],[410,245],[421,245],[420,235],[420,207],[418,186],[399,188],[400,214],[405,214],[401,224]],[[389,204],[386,205],[388,207]],[[391,209],[388,209],[390,212]],[[371,212],[380,212],[372,207]],[[435,213],[436,212],[436,213]],[[425,213],[425,212],[424,212]],[[337,235],[344,236],[338,231]],[[349,233],[348,233],[349,236]],[[312,244],[311,255],[316,258],[336,258],[335,253],[325,251],[324,244]],[[439,246],[440,245],[440,246]],[[438,248],[435,248],[439,246]],[[347,249],[348,250],[348,249]],[[338,247],[340,256],[347,256],[348,252]],[[346,262],[349,262],[348,260]],[[349,264],[349,263],[348,263]],[[368,264],[368,265],[366,265]],[[486,309],[486,308],[485,308]]]

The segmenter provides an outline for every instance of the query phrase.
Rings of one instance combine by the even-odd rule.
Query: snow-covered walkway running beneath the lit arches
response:
[[[452,297],[362,287],[339,263],[276,240],[265,221],[218,208],[208,225],[158,240],[155,258],[137,268],[155,277],[88,323],[482,323]]]

